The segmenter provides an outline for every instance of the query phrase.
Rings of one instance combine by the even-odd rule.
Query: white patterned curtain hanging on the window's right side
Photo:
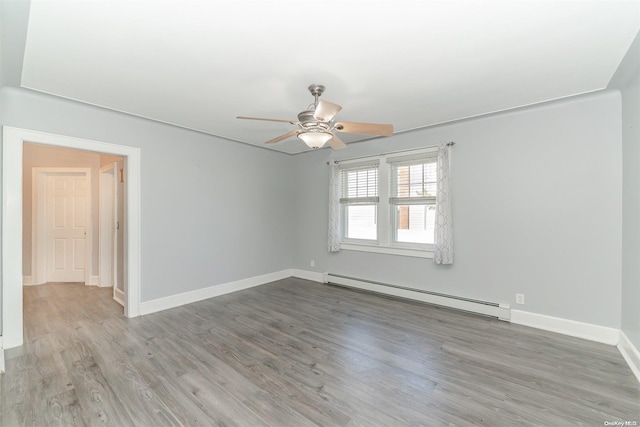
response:
[[[438,147],[438,187],[436,192],[436,236],[433,261],[453,264],[453,226],[451,218],[451,190],[449,178],[449,150],[445,144]]]

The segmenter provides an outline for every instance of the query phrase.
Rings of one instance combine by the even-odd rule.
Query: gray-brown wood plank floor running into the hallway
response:
[[[295,278],[137,319],[110,291],[24,289],[3,426],[640,424],[612,346]]]

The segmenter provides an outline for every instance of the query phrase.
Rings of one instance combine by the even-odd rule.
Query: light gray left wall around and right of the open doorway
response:
[[[141,300],[290,268],[293,158],[24,89],[2,125],[141,148]]]

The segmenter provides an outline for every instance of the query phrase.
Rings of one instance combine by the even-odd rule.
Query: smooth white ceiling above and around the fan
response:
[[[22,86],[264,146],[294,127],[235,117],[312,83],[397,133],[606,88],[639,30],[640,1],[33,0]]]

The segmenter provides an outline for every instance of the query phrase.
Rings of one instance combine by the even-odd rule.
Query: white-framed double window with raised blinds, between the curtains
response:
[[[437,151],[340,163],[342,249],[431,257]]]

